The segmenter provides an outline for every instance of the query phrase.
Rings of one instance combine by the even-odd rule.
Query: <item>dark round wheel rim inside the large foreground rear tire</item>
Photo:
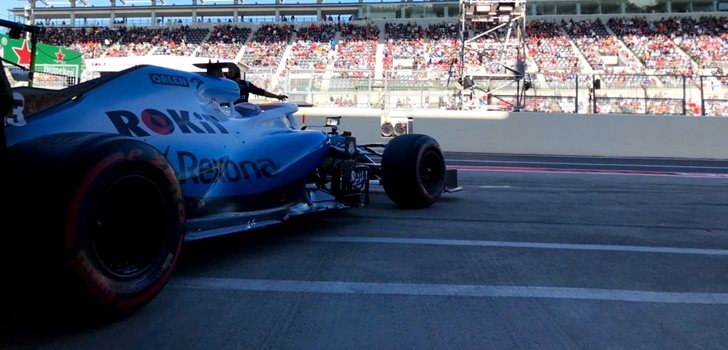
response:
[[[91,240],[101,266],[111,275],[134,278],[161,255],[166,232],[165,200],[148,178],[126,176],[106,192]]]

